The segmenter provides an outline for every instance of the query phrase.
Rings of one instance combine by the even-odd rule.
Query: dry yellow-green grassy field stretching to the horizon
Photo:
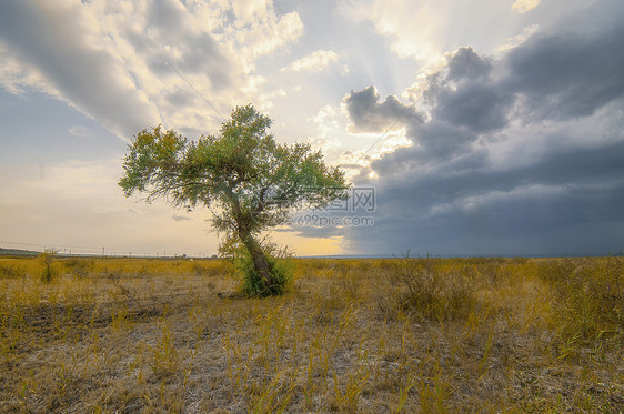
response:
[[[620,258],[0,259],[2,413],[624,411]]]

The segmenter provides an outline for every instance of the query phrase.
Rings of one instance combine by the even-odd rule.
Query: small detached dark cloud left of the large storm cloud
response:
[[[405,122],[422,122],[422,117],[410,105],[404,105],[395,97],[388,97],[379,103],[380,97],[374,87],[369,87],[360,92],[352,91],[344,98],[352,122],[353,132],[384,132],[394,124]]]

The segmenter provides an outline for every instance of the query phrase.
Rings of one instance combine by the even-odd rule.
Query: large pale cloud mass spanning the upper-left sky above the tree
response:
[[[61,99],[122,139],[158,123],[205,132],[221,118],[188,83],[228,113],[264,93],[255,60],[302,33],[299,14],[272,1],[9,0],[0,84]]]

